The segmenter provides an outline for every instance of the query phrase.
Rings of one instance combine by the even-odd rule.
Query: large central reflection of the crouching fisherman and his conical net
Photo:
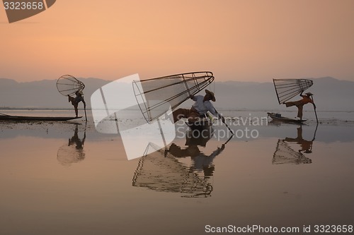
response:
[[[217,147],[210,155],[200,151],[207,138],[195,138],[186,135],[185,146],[172,143],[168,149],[150,145],[156,151],[139,159],[139,164],[132,179],[132,186],[145,187],[154,191],[182,193],[184,198],[207,198],[212,193],[211,176],[215,171],[212,160],[224,150]],[[182,163],[181,158],[190,157],[191,164]]]

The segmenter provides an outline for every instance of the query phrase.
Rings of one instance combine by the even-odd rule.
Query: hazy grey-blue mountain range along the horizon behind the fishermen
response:
[[[110,80],[98,78],[78,78],[85,85],[84,97],[91,107],[92,93]],[[217,79],[217,78],[216,78]],[[337,80],[331,77],[310,78],[314,85],[307,91],[314,93],[314,101],[319,111],[354,111],[354,82]],[[0,109],[4,107],[16,109],[72,109],[67,97],[57,91],[57,80],[40,80],[18,83],[15,80],[0,78]],[[219,110],[263,110],[280,111],[296,110],[279,105],[273,81],[268,83],[255,82],[215,82],[208,88],[215,91]],[[293,100],[299,100],[294,97]],[[192,101],[185,102],[182,107],[190,107]],[[312,110],[308,105],[305,110]]]

